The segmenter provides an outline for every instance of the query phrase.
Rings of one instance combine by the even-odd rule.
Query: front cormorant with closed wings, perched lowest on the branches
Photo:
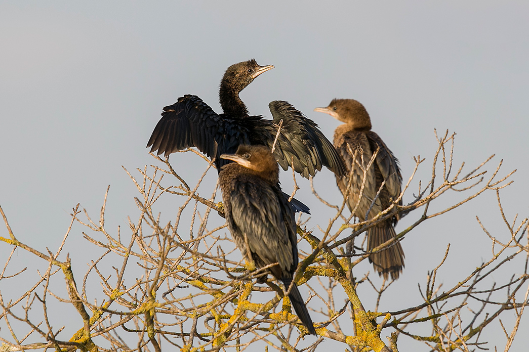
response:
[[[222,154],[234,161],[218,175],[227,227],[243,256],[268,271],[288,290],[298,265],[294,211],[279,186],[279,166],[270,149],[240,145],[235,154]],[[299,319],[309,333],[316,330],[296,284],[288,294]]]

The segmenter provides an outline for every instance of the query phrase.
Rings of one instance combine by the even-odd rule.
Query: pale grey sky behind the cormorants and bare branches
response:
[[[496,154],[489,170],[500,159],[503,174],[518,169],[502,200],[509,220],[516,213],[527,217],[527,14],[526,2],[489,1],[2,2],[0,205],[21,240],[54,250],[71,208],[80,202],[97,214],[110,184],[109,221],[126,226],[136,194],[121,165],[133,170],[154,163],[145,144],[161,108],[196,94],[219,112],[224,70],[255,58],[276,68],[242,92],[252,114],[269,116],[269,101],[288,100],[332,138],[339,123],[313,108],[335,97],[357,99],[400,160],[405,180],[418,154],[427,161],[417,180],[428,180],[433,129],[443,134],[448,128],[457,133],[456,165],[465,161],[471,170]],[[204,163],[189,160],[187,177],[193,178]],[[287,191],[289,176],[281,176]],[[298,198],[320,213],[312,226],[326,224],[330,212],[310,194],[308,182],[298,181]],[[315,184],[339,201],[329,171],[318,174]],[[424,282],[448,243],[451,267],[462,272],[489,256],[475,217],[504,236],[505,226],[495,194],[480,198],[407,235],[406,268],[391,288],[402,301],[383,307],[420,302],[416,283]],[[439,208],[459,199],[448,195]],[[0,228],[0,236],[7,236]],[[84,245],[81,230],[70,238],[70,252]],[[482,247],[469,251],[474,243]],[[0,257],[9,250],[0,246]],[[88,258],[77,263],[83,274]],[[461,279],[445,277],[447,285]],[[525,319],[521,331],[527,328]],[[490,334],[489,348],[504,346],[499,332]],[[521,348],[527,337],[518,338]],[[403,347],[425,350],[401,339]]]

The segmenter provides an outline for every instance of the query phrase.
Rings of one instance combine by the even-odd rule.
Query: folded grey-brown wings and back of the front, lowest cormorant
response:
[[[252,258],[258,266],[279,263],[280,271],[271,268],[278,278],[297,266],[296,242],[294,247],[291,242],[293,236],[296,241],[294,213],[280,191],[262,183],[240,182],[233,188],[229,201],[233,225],[248,237]]]

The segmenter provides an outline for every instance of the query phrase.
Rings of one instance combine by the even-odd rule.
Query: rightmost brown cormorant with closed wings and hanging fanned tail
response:
[[[358,217],[360,221],[366,219],[366,214],[371,207],[373,199],[377,196],[382,182],[386,180],[378,198],[375,200],[375,204],[367,215],[368,219],[372,219],[379,212],[386,210],[400,195],[402,175],[400,175],[397,158],[391,153],[386,144],[382,142],[378,134],[371,131],[369,114],[366,108],[357,100],[333,99],[329,106],[315,108],[314,111],[329,114],[344,123],[334,131],[334,146],[345,161],[348,170],[353,169],[352,173],[349,173],[352,181],[347,205],[351,211],[356,208],[354,216]],[[359,164],[367,166],[372,155],[377,150],[375,161],[367,170],[362,197],[359,199],[363,182],[363,171]],[[356,159],[354,160],[354,158]],[[336,177],[336,183],[345,197],[348,192],[349,176],[344,178]],[[398,202],[398,205],[402,205],[402,200]],[[368,230],[368,252],[396,236],[394,226],[399,218],[399,215],[396,214],[389,219],[380,221],[380,223]],[[391,275],[391,279],[396,280],[404,267],[402,246],[397,243],[381,252],[373,253],[369,256],[369,261],[373,263],[379,275],[384,275],[385,279],[388,279],[388,275]]]

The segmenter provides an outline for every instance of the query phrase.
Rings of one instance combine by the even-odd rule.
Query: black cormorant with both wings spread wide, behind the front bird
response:
[[[222,114],[217,114],[195,95],[178,98],[173,105],[163,108],[162,118],[154,127],[147,147],[158,155],[197,147],[215,159],[220,172],[230,160],[221,154],[234,153],[240,144],[267,145],[272,148],[277,125],[282,119],[274,156],[284,170],[294,165],[303,177],[314,176],[322,165],[342,176],[345,165],[332,143],[317,128],[286,101],[272,101],[273,120],[250,116],[239,93],[261,73],[274,68],[260,66],[256,60],[243,61],[227,68],[219,88]]]

